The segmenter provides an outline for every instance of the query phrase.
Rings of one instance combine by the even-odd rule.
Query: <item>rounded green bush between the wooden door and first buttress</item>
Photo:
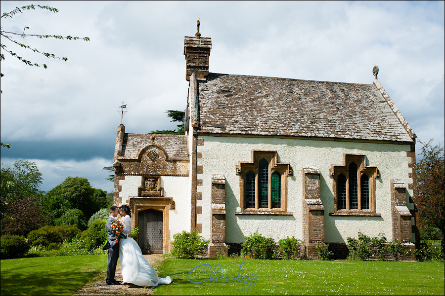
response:
[[[196,231],[182,231],[173,235],[172,255],[178,258],[191,259],[203,253],[209,245],[209,240],[205,240]]]

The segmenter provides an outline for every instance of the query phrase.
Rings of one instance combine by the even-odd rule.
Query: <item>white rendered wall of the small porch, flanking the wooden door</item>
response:
[[[176,204],[175,210],[169,210],[171,240],[173,240],[174,234],[182,232],[182,230],[190,231],[191,190],[189,179],[189,177],[161,176],[164,196],[173,197]],[[119,181],[119,185],[122,186],[122,190],[119,192],[122,204],[128,205],[129,198],[138,194],[138,187],[142,185],[142,176],[125,176],[124,180]]]

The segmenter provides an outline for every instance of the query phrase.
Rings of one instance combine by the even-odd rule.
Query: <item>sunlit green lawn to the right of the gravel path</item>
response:
[[[197,267],[189,276],[192,269],[189,266],[201,264],[211,266]],[[240,264],[241,269],[244,267],[241,271]],[[173,283],[159,286],[154,289],[154,294],[444,295],[444,272],[443,262],[192,260],[169,257],[164,261],[160,276],[172,276]],[[243,276],[244,282],[235,280],[242,280]],[[202,283],[192,283],[189,277],[193,282]]]

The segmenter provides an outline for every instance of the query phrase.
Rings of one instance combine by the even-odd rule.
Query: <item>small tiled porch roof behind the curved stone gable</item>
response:
[[[185,135],[124,134],[120,158],[136,158],[137,152],[155,144],[167,152],[169,158],[188,160]]]

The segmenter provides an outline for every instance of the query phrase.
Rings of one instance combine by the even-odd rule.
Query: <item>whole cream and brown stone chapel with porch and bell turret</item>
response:
[[[199,27],[198,27],[199,28]],[[145,253],[195,230],[209,256],[255,232],[345,254],[358,231],[419,245],[415,138],[377,80],[370,84],[209,72],[212,40],[185,37],[185,134],[118,128],[115,205],[127,204]],[[346,256],[346,255],[345,255]]]

